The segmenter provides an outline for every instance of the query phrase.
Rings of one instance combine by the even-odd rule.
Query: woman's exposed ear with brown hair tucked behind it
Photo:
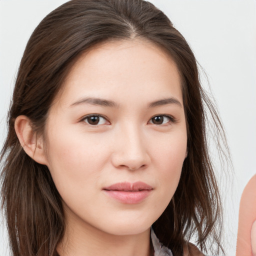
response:
[[[26,154],[36,162],[47,165],[42,138],[37,137],[33,131],[30,119],[25,115],[19,115],[15,119],[14,128]]]

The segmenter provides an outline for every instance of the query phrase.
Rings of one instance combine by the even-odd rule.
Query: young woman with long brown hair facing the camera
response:
[[[72,0],[48,14],[1,154],[13,255],[196,255],[192,236],[222,251],[204,107],[221,131],[191,49],[151,3]]]

